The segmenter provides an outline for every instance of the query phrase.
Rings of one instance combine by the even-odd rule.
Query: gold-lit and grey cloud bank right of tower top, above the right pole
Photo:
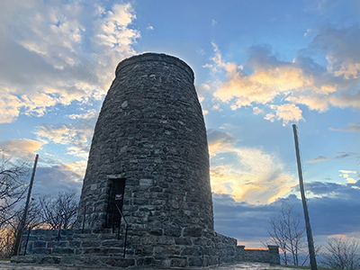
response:
[[[344,40],[347,40],[345,42]],[[314,36],[308,48],[300,49],[292,61],[279,59],[269,46],[247,49],[244,65],[225,61],[219,47],[212,43],[212,63],[203,67],[224,77],[217,82],[213,96],[229,103],[232,110],[264,105],[268,121],[304,120],[302,109],[327,112],[330,107],[360,108],[360,28],[324,28]],[[310,55],[320,53],[328,65],[321,66]],[[210,85],[210,84],[209,84]],[[258,113],[257,110],[254,113]]]

